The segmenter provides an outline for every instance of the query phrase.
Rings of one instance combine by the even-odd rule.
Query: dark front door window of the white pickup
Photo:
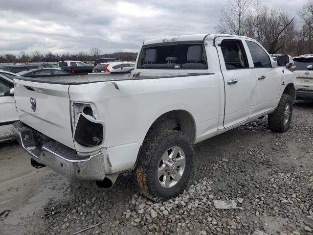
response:
[[[246,41],[250,50],[254,68],[270,68],[271,63],[268,54],[254,42]]]

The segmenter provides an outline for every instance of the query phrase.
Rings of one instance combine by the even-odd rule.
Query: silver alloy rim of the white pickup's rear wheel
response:
[[[167,149],[160,160],[157,168],[157,178],[163,188],[175,186],[185,170],[186,158],[184,151],[173,146]]]

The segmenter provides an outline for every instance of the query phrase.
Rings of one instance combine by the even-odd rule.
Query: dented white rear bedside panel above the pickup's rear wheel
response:
[[[219,96],[218,76],[215,74],[114,82],[119,90],[107,82],[69,87],[71,102],[93,104],[99,120],[105,123],[106,134],[101,147],[107,149],[112,164],[110,173],[134,166],[150,126],[169,111],[189,112],[196,126],[197,122],[211,123],[206,125],[203,133],[216,128],[219,103],[207,105],[210,98]]]

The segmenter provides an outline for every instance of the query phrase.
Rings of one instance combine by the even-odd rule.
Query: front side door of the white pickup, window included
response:
[[[283,67],[272,68],[268,52],[255,41],[245,40],[252,78],[256,81],[256,98],[249,118],[274,109],[280,99]]]

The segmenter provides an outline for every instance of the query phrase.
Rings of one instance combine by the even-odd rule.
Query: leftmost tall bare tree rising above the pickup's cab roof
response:
[[[243,27],[247,17],[247,10],[253,0],[228,0],[221,10],[221,17],[217,31],[225,34],[243,34]]]

